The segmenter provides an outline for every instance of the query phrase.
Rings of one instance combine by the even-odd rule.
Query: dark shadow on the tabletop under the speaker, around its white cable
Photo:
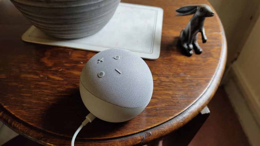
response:
[[[60,95],[60,98],[46,109],[47,114],[43,117],[42,128],[50,133],[72,138],[89,111],[81,100],[78,88],[67,89],[57,94]],[[113,131],[122,128],[126,123],[110,123],[96,118],[82,128],[77,138],[110,137],[113,135]]]

